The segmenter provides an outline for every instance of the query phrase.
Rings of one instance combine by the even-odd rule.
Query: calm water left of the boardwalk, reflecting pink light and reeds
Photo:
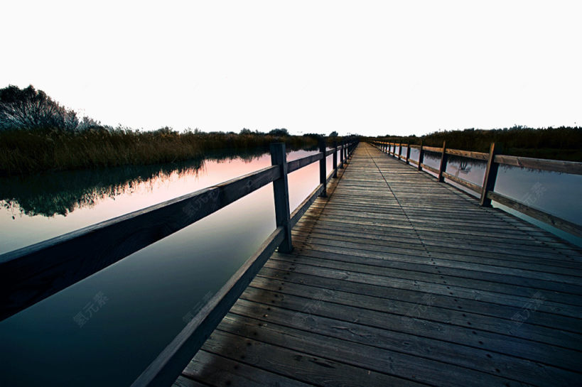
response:
[[[249,154],[5,179],[0,253],[269,165],[269,154]],[[318,176],[318,163],[289,175],[291,211]],[[0,322],[0,386],[129,386],[274,231],[272,190],[266,185]]]

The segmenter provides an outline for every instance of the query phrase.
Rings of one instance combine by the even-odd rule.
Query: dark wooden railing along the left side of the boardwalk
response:
[[[270,167],[2,254],[0,320],[273,182],[275,231],[132,384],[170,386],[269,256],[277,248],[279,251],[293,249],[291,228],[318,196],[326,195],[326,184],[337,177],[338,168],[344,167],[355,146],[355,141],[343,142],[325,151],[320,141],[319,153],[287,163],[285,144],[273,143]],[[333,170],[326,175],[326,158],[330,154],[333,154]],[[319,185],[290,213],[287,175],[316,161],[320,165]]]

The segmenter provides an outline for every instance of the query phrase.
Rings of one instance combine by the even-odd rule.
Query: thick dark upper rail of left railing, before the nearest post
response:
[[[278,167],[263,168],[213,187],[2,254],[0,320],[279,178]],[[79,254],[80,251],[83,253]]]

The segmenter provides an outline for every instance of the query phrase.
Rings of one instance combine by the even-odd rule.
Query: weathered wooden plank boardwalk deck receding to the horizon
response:
[[[361,143],[174,386],[582,386],[582,251]]]

